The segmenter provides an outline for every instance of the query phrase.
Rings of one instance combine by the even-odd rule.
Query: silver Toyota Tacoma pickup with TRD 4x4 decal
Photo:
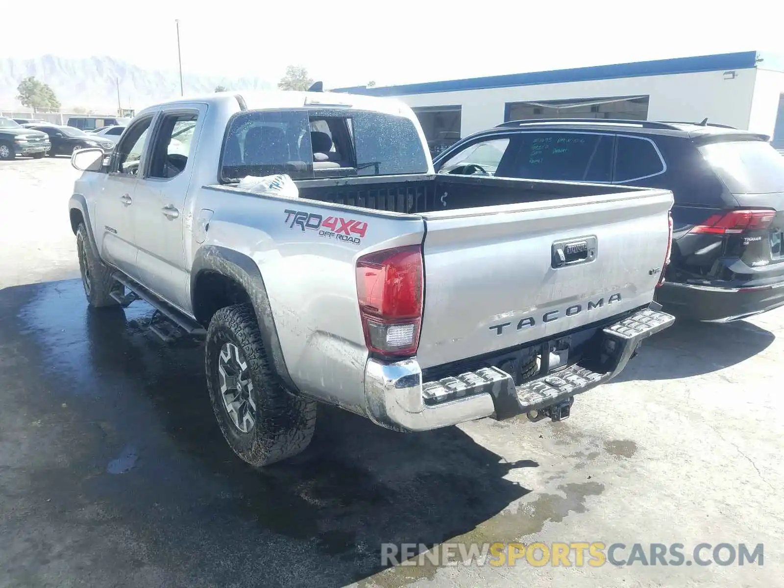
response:
[[[396,100],[176,100],[71,161],[89,305],[144,299],[162,339],[205,338],[216,418],[254,465],[307,446],[316,401],[401,431],[564,419],[673,322],[652,303],[670,191],[435,176]],[[272,174],[294,194],[238,187]]]

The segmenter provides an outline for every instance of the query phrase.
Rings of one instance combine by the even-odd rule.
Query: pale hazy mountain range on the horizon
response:
[[[49,84],[62,104],[61,111],[74,108],[111,114],[120,104],[140,110],[150,104],[180,96],[180,76],[176,71],[151,71],[108,56],[67,59],[44,55],[34,59],[0,59],[0,110],[20,109],[16,86],[27,76]],[[212,93],[216,86],[227,89],[272,89],[261,78],[223,78],[183,72],[187,96]]]

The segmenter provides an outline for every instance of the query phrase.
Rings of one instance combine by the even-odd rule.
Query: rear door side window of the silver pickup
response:
[[[179,176],[191,153],[191,140],[198,114],[165,114],[158,124],[150,163],[151,178],[170,179]]]

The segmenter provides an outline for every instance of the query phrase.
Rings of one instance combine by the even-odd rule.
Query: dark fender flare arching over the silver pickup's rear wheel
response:
[[[219,245],[204,245],[196,252],[191,267],[191,308],[195,309],[194,293],[198,277],[205,271],[212,271],[236,281],[248,294],[259,329],[264,348],[272,360],[271,367],[281,379],[285,387],[292,392],[298,392],[296,384],[286,368],[281,341],[278,338],[278,329],[275,327],[270,298],[267,296],[267,287],[261,277],[261,272],[256,262],[244,253],[227,249]]]

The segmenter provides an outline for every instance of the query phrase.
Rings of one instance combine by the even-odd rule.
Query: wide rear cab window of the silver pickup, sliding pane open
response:
[[[323,108],[245,111],[227,129],[220,179],[397,175],[426,173],[427,166],[419,133],[405,117]]]

